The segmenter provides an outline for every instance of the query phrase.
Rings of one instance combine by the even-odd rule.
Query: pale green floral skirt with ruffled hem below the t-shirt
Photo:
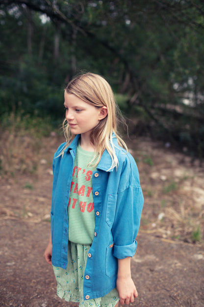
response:
[[[53,267],[57,281],[57,295],[65,301],[78,302],[79,307],[114,307],[119,302],[117,289],[113,289],[104,297],[83,300],[83,278],[90,245],[68,243],[67,269]]]

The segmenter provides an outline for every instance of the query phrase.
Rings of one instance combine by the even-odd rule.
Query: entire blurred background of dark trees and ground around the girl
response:
[[[64,87],[87,71],[114,91],[145,197],[135,304],[202,307],[203,0],[0,0],[0,306],[66,306],[43,253]]]

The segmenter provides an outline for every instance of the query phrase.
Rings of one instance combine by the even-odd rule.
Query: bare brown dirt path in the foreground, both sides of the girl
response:
[[[50,224],[9,218],[0,228],[0,306],[76,306],[57,297],[51,266],[43,259]],[[131,306],[203,307],[204,248],[163,240],[138,236],[131,265],[139,297]]]

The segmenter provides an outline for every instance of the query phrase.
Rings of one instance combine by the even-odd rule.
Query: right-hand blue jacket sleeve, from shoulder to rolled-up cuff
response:
[[[139,173],[131,157],[121,172],[117,194],[115,218],[112,226],[114,256],[118,259],[132,257],[137,248],[144,197],[139,183]]]

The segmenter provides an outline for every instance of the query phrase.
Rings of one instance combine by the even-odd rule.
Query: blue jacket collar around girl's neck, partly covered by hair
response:
[[[74,138],[74,140],[70,143],[70,145],[64,150],[64,153],[77,148],[79,137],[80,137],[80,134],[77,134],[76,137]],[[115,136],[115,133],[113,133],[113,146],[114,146],[116,155],[118,155],[119,145],[118,145],[118,141],[117,141],[117,138]],[[97,169],[101,169],[101,170],[106,171],[106,172],[107,171],[112,172],[113,168],[110,169],[111,165],[112,165],[111,156],[108,153],[108,151],[105,150],[104,153],[102,154],[102,157],[101,157],[101,160],[100,160],[100,162],[97,166]]]

